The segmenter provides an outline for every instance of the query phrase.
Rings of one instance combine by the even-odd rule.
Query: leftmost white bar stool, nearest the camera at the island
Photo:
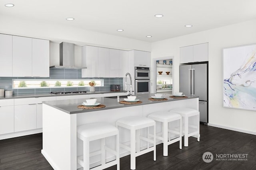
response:
[[[110,149],[105,145],[105,138],[116,136],[116,149]],[[120,170],[119,163],[119,131],[118,129],[108,123],[97,122],[88,123],[77,127],[77,137],[81,139],[84,144],[83,156],[77,157],[77,162],[84,170],[90,169],[90,156],[101,154],[101,165],[91,168],[90,170],[102,170],[113,165],[117,165],[117,170]],[[90,141],[101,139],[101,149],[95,152],[89,151]],[[116,159],[106,163],[106,151],[114,154]]]

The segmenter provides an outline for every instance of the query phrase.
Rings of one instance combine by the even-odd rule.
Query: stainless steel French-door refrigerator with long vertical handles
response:
[[[180,66],[180,92],[199,96],[200,122],[208,123],[208,63]]]

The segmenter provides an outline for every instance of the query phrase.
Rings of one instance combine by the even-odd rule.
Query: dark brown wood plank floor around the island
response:
[[[189,138],[189,147],[169,145],[168,156],[162,156],[162,144],[153,152],[136,158],[137,170],[256,170],[256,136],[206,125],[200,125],[200,142]],[[0,170],[52,170],[41,154],[42,133],[0,140]],[[205,163],[204,152],[212,154],[248,154],[248,160],[213,160]],[[120,158],[120,169],[130,169],[130,156]],[[116,166],[106,170],[116,170]]]

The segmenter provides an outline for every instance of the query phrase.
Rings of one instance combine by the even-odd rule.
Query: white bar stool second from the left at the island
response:
[[[117,127],[124,127],[130,130],[130,147],[120,143],[120,147],[130,151],[130,168],[136,169],[136,157],[142,154],[154,151],[154,160],[156,160],[156,122],[148,117],[130,116],[116,121]],[[149,136],[149,127],[154,128],[153,139]],[[147,137],[140,136],[140,129],[148,128]],[[137,131],[136,131],[137,130]],[[148,145],[144,150],[140,150],[140,140],[146,141]],[[149,146],[153,144],[153,147]]]

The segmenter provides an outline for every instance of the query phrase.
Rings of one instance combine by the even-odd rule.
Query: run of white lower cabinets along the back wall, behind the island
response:
[[[18,137],[20,134],[24,135],[25,133],[30,135],[34,133],[35,129],[36,133],[38,133],[38,130],[42,128],[43,101],[124,96],[126,94],[126,92],[117,92],[39,98],[2,99],[0,100],[0,139],[10,138],[10,136]],[[26,132],[23,133],[22,131]],[[6,136],[6,134],[8,136]]]

